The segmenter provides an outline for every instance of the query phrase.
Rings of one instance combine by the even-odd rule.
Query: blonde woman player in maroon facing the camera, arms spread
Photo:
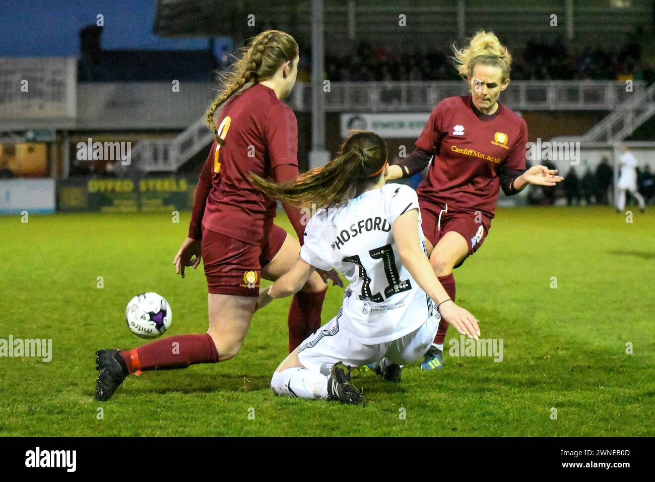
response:
[[[420,172],[434,156],[417,193],[430,262],[453,300],[453,269],[487,237],[500,188],[512,195],[527,184],[555,186],[563,179],[540,165],[525,171],[527,126],[498,102],[510,83],[512,57],[496,35],[477,32],[466,49],[455,49],[455,59],[471,95],[442,100],[421,132],[416,150],[390,166],[388,178]],[[441,319],[422,369],[441,368],[447,329],[448,323]]]

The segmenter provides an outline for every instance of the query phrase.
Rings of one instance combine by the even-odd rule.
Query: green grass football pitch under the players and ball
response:
[[[206,331],[202,268],[179,279],[171,264],[188,218],[0,218],[0,338],[52,338],[53,351],[0,358],[1,435],[655,435],[655,216],[601,207],[500,209],[455,271],[483,338],[502,338],[501,362],[414,363],[399,386],[354,372],[365,408],[277,397],[288,298],[255,315],[235,359],[131,376],[99,403],[94,351],[143,343],[124,320],[134,294],[168,299],[165,336]],[[341,293],[329,288],[324,323]]]

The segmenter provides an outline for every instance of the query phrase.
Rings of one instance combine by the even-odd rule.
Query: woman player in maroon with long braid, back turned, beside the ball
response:
[[[260,277],[274,281],[295,262],[298,241],[273,224],[275,201],[248,176],[252,172],[288,182],[298,175],[297,121],[280,100],[293,89],[298,61],[298,45],[291,35],[276,30],[260,33],[225,76],[223,89],[207,111],[215,140],[200,174],[189,237],[174,259],[182,277],[185,266],[197,268],[204,259],[207,333],[170,336],[130,351],[98,351],[97,399],[109,399],[132,372],[234,357],[255,311]],[[299,210],[290,205],[284,209],[302,241]],[[341,284],[335,271],[315,273],[293,300],[290,351],[320,327],[327,277]]]

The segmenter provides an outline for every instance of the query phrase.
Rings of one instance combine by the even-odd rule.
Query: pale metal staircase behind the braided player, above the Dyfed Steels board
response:
[[[202,121],[203,119],[198,119],[174,138],[140,140],[132,149],[132,161],[127,169],[141,172],[176,172],[181,165],[212,142],[214,134]]]

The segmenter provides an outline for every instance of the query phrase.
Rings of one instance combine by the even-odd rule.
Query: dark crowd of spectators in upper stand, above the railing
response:
[[[642,58],[635,35],[620,47],[584,46],[572,52],[561,39],[534,38],[525,47],[510,49],[515,80],[645,80],[655,71]],[[426,48],[394,52],[360,43],[351,54],[326,55],[326,76],[333,81],[440,81],[457,80],[449,50]]]

